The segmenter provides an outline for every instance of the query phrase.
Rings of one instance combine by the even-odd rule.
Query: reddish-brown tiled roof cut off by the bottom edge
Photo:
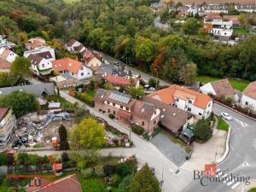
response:
[[[82,192],[78,177],[69,175],[49,183],[40,189],[32,190],[34,192]],[[32,192],[31,190],[29,192]],[[26,192],[28,192],[26,190]]]

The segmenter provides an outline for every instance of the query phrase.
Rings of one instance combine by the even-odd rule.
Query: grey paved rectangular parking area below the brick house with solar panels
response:
[[[162,131],[152,138],[151,143],[153,143],[166,158],[172,160],[176,166],[182,166],[183,162],[186,160],[187,153],[184,148],[173,143]]]

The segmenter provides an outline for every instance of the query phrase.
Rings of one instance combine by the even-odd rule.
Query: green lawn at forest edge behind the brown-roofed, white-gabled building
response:
[[[218,78],[213,78],[210,76],[204,76],[204,75],[199,75],[195,77],[195,81],[200,81],[203,83],[209,83],[212,81],[218,80]],[[230,84],[232,85],[232,87],[236,90],[244,90],[247,85],[250,83],[249,81],[246,80],[237,80],[237,79],[229,79],[230,80]]]

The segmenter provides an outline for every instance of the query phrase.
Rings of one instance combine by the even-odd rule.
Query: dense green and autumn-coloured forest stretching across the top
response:
[[[191,84],[195,74],[216,78],[256,80],[256,37],[234,46],[198,39],[154,27],[154,0],[0,1],[0,34],[20,45],[28,38],[43,37],[55,48],[56,57],[67,54],[63,44],[76,38],[85,47],[132,64],[176,84]],[[199,27],[199,26],[196,26]]]

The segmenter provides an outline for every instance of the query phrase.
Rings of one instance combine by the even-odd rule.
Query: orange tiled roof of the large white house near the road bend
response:
[[[195,100],[194,105],[198,108],[207,108],[208,102],[212,101],[210,96],[206,96],[195,90],[189,90],[188,88],[179,86],[177,84],[173,84],[163,90],[154,91],[148,96],[151,96],[161,102],[165,102],[166,104],[172,104],[172,102],[175,102],[174,97],[183,100],[193,99]]]

